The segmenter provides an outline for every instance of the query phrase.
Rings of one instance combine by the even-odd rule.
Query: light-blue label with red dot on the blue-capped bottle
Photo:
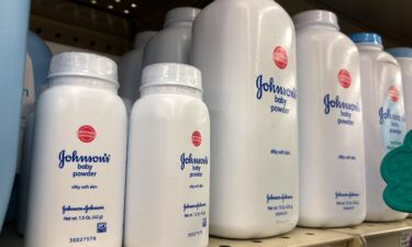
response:
[[[382,145],[387,153],[402,145],[405,135],[403,101],[397,85],[389,87],[383,102],[378,111],[378,120]]]

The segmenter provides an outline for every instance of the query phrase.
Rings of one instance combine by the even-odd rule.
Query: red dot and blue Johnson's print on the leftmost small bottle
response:
[[[108,205],[102,199],[110,197],[109,191],[115,189],[107,187],[111,184],[107,182],[108,172],[113,175],[112,179],[119,179],[111,171],[122,168],[113,167],[111,151],[91,151],[94,150],[98,138],[93,126],[81,125],[77,132],[73,132],[73,135],[79,148],[60,149],[55,155],[55,166],[63,175],[59,177],[68,181],[64,183],[68,187],[63,188],[67,200],[63,200],[59,205],[60,218],[65,227],[79,228],[78,234],[70,235],[66,240],[69,244],[81,245],[81,243],[97,242],[99,237],[116,227],[118,224],[111,225],[113,218],[110,216],[113,212],[108,212]],[[113,207],[111,210],[113,211]]]

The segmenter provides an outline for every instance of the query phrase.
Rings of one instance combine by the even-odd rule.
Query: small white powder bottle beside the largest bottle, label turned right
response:
[[[127,156],[125,247],[207,247],[210,124],[200,70],[143,69]]]

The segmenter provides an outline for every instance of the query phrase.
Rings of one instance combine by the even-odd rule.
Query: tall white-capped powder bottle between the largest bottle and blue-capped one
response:
[[[365,220],[359,52],[336,15],[293,16],[299,85],[299,225],[339,227]]]

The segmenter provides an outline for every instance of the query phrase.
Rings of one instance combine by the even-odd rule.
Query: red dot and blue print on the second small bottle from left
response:
[[[193,131],[191,134],[191,147],[181,153],[179,157],[179,170],[183,176],[182,190],[187,199],[181,204],[181,214],[188,226],[191,226],[186,236],[208,236],[209,216],[209,157],[208,147],[202,145],[202,134]]]

